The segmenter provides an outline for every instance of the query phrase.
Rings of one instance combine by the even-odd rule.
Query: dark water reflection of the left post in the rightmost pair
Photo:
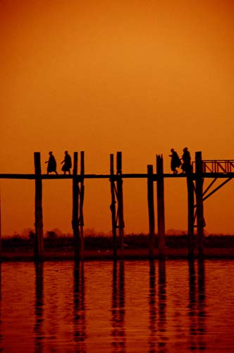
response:
[[[188,315],[190,318],[190,350],[195,352],[197,349],[197,317],[196,317],[196,275],[195,275],[195,262],[190,260],[188,262],[189,268],[189,304]]]

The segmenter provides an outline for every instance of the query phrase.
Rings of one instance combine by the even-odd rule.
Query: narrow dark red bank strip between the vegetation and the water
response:
[[[117,253],[118,259],[123,260],[149,260],[148,249],[125,249],[123,256],[120,251]],[[154,250],[154,258],[158,259],[158,249]],[[195,249],[195,258],[197,256],[197,249]],[[233,259],[234,260],[234,249],[228,248],[209,248],[204,249],[204,259]],[[170,249],[166,248],[166,260],[170,259],[187,259],[187,249]],[[44,261],[67,261],[74,260],[74,251],[70,250],[46,250],[44,251]],[[113,254],[111,250],[99,249],[99,250],[85,250],[84,261],[113,261]],[[33,251],[2,251],[1,262],[11,261],[34,261]]]

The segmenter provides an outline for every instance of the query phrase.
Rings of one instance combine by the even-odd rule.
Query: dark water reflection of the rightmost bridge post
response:
[[[199,333],[199,350],[205,350],[207,348],[206,342],[204,341],[204,334],[206,333],[206,293],[205,293],[205,271],[204,271],[204,259],[199,258],[198,260],[198,301],[197,301],[197,325]]]

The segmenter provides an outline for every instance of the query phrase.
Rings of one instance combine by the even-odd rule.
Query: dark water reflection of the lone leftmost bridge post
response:
[[[35,263],[35,353],[43,352],[43,306],[44,306],[44,292],[43,292],[43,263]]]

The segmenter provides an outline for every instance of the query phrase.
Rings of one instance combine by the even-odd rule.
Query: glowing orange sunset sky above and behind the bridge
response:
[[[117,4],[118,3],[118,4]],[[126,4],[127,3],[127,4]],[[234,159],[233,1],[2,0],[1,168],[33,152],[85,151],[89,173],[146,172],[187,146]],[[155,169],[155,167],[154,167]],[[59,169],[58,169],[59,172]],[[34,182],[1,180],[2,233],[34,224]],[[109,181],[85,181],[85,227],[108,232]],[[71,232],[71,181],[44,181],[44,230]],[[124,181],[126,232],[147,232],[146,180]],[[166,229],[186,229],[185,180],[165,182]],[[234,186],[205,201],[207,230],[234,233]],[[97,203],[99,201],[99,203]]]

